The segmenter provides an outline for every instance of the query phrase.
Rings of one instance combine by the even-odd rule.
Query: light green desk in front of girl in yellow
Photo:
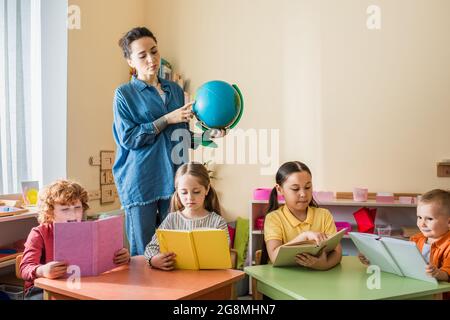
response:
[[[244,271],[256,279],[258,292],[280,300],[422,299],[450,291],[450,283],[435,286],[386,272],[380,273],[380,289],[370,290],[367,280],[373,274],[367,273],[357,257],[342,257],[341,264],[328,271],[272,265],[246,267]]]

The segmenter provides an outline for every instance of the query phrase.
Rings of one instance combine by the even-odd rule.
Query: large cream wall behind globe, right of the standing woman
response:
[[[381,29],[366,10],[381,8]],[[279,161],[315,188],[448,188],[450,20],[446,0],[148,0],[145,22],[190,89],[223,79],[245,96],[243,129],[280,129]],[[207,160],[208,157],[205,158]],[[261,165],[216,165],[225,216],[247,216]]]

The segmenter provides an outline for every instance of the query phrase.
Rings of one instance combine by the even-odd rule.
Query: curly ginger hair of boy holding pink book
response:
[[[55,204],[67,205],[81,201],[83,213],[89,209],[88,193],[77,182],[70,180],[58,180],[48,185],[39,192],[39,223],[52,223],[55,220]]]

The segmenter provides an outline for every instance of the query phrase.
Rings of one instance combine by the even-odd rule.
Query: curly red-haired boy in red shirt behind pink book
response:
[[[40,225],[33,228],[25,243],[20,274],[25,280],[27,295],[37,278],[57,279],[67,273],[67,264],[53,261],[53,223],[80,222],[89,209],[88,193],[78,183],[59,180],[39,194]],[[121,265],[130,261],[128,249],[115,253],[114,263]]]

